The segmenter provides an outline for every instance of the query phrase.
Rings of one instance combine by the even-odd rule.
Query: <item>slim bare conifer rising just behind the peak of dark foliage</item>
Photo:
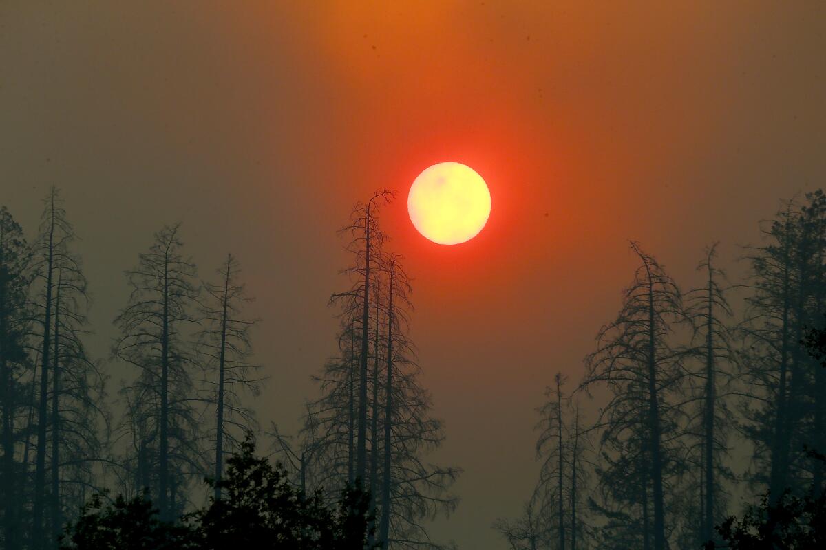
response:
[[[255,319],[241,317],[244,306],[253,301],[239,282],[240,266],[231,254],[217,270],[220,282],[205,283],[206,299],[202,304],[202,331],[198,352],[207,372],[208,403],[216,407],[215,498],[221,498],[224,456],[238,449],[243,435],[253,430],[253,411],[244,407],[242,394],[258,395],[259,365],[249,363],[252,344],[249,330]]]

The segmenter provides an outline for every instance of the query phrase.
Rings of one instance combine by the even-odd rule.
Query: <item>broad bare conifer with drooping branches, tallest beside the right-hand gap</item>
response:
[[[666,517],[666,491],[669,480],[679,472],[675,460],[681,411],[672,397],[681,390],[684,372],[672,332],[686,317],[676,283],[636,242],[631,248],[640,266],[624,291],[618,317],[597,336],[598,347],[586,360],[582,387],[605,383],[611,394],[600,419],[601,449],[608,463],[601,470],[601,483],[610,487],[605,495],[621,503],[620,508],[638,504],[643,515],[640,546],[649,548],[650,533],[653,548],[665,550],[673,529]],[[636,476],[636,480],[626,479],[623,487],[616,485],[616,479],[605,485],[616,474]],[[614,511],[628,512],[627,508]]]

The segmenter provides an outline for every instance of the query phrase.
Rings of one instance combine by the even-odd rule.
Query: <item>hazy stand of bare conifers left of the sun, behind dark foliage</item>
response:
[[[57,548],[64,525],[90,499],[102,505],[103,490],[121,503],[148,491],[158,521],[174,524],[207,498],[204,477],[211,501],[222,500],[225,457],[257,431],[272,438],[271,456],[297,494],[334,507],[342,491],[368,495],[371,545],[439,548],[426,522],[457,505],[449,486],[458,469],[425,462],[444,434],[407,337],[410,280],[379,223],[392,197],[379,191],[356,204],[342,230],[353,260],[344,270],[351,286],[331,299],[340,353],[316,377],[320,397],[294,438],[275,423],[261,431],[254,418],[251,397],[264,382],[252,360],[258,320],[244,313],[252,298],[234,256],[201,281],[179,225],[155,233],[125,272],[112,351],[96,357],[85,344],[93,327],[78,238],[59,190],[45,198],[31,244],[2,207],[0,547]],[[132,376],[109,398],[116,364]]]

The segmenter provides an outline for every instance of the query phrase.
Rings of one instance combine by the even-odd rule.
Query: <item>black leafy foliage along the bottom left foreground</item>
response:
[[[319,492],[304,495],[293,487],[280,465],[255,456],[247,438],[230,458],[218,482],[223,497],[176,523],[159,519],[145,495],[130,501],[118,496],[105,503],[98,494],[69,524],[64,550],[361,550],[367,548],[372,517],[369,496],[348,487],[337,508],[325,505]]]

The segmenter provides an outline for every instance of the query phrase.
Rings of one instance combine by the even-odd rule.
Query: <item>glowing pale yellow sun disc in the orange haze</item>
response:
[[[476,237],[491,215],[491,192],[471,167],[439,162],[421,172],[407,195],[413,226],[437,244]]]

